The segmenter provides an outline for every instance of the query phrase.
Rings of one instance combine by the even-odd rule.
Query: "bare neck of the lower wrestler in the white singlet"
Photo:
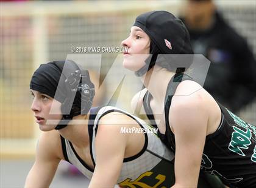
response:
[[[88,117],[88,114],[74,116],[74,118],[68,123],[68,126],[58,130],[60,135],[65,139],[68,139],[76,147],[82,148],[88,146]]]

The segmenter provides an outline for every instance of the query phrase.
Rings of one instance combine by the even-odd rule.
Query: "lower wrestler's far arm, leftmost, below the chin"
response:
[[[43,132],[37,145],[35,163],[26,178],[26,188],[49,187],[61,156],[60,135],[55,130]]]

